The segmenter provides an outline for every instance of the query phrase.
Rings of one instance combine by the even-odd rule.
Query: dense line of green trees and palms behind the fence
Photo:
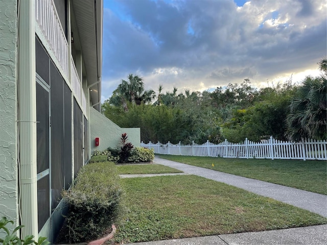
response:
[[[290,79],[256,89],[244,79],[213,92],[174,87],[162,93],[160,85],[156,93],[130,74],[102,104],[102,113],[122,128],[141,128],[145,143],[326,139],[327,59],[318,67],[321,75],[308,76],[300,85]]]

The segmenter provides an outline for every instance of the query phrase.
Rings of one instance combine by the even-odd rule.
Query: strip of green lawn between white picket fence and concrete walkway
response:
[[[214,169],[228,174],[327,194],[326,161],[156,155],[172,161]]]

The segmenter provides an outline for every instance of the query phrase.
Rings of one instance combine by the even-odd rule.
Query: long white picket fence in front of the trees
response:
[[[308,140],[300,143],[275,140],[273,137],[263,142],[230,143],[225,139],[220,144],[207,141],[204,144],[191,145],[141,142],[141,147],[154,149],[154,153],[180,156],[209,156],[225,158],[261,158],[261,159],[301,159],[327,160],[327,142]]]

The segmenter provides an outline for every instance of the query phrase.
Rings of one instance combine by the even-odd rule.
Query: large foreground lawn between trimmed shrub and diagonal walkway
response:
[[[121,179],[129,209],[115,242],[327,224],[318,214],[198,176]]]

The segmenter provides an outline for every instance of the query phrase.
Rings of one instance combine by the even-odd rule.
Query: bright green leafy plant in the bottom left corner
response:
[[[20,245],[27,245],[27,244],[36,244],[36,245],[46,245],[50,244],[49,241],[46,241],[46,237],[40,236],[37,241],[33,240],[33,235],[27,235],[24,239],[20,239],[16,232],[23,228],[24,226],[17,226],[11,233],[9,232],[9,229],[6,227],[8,223],[11,223],[12,225],[14,222],[12,220],[7,219],[7,217],[2,217],[0,220],[0,231],[4,230],[6,232],[6,236],[3,238],[0,238],[0,243],[4,245],[12,245],[12,244],[20,244]]]

